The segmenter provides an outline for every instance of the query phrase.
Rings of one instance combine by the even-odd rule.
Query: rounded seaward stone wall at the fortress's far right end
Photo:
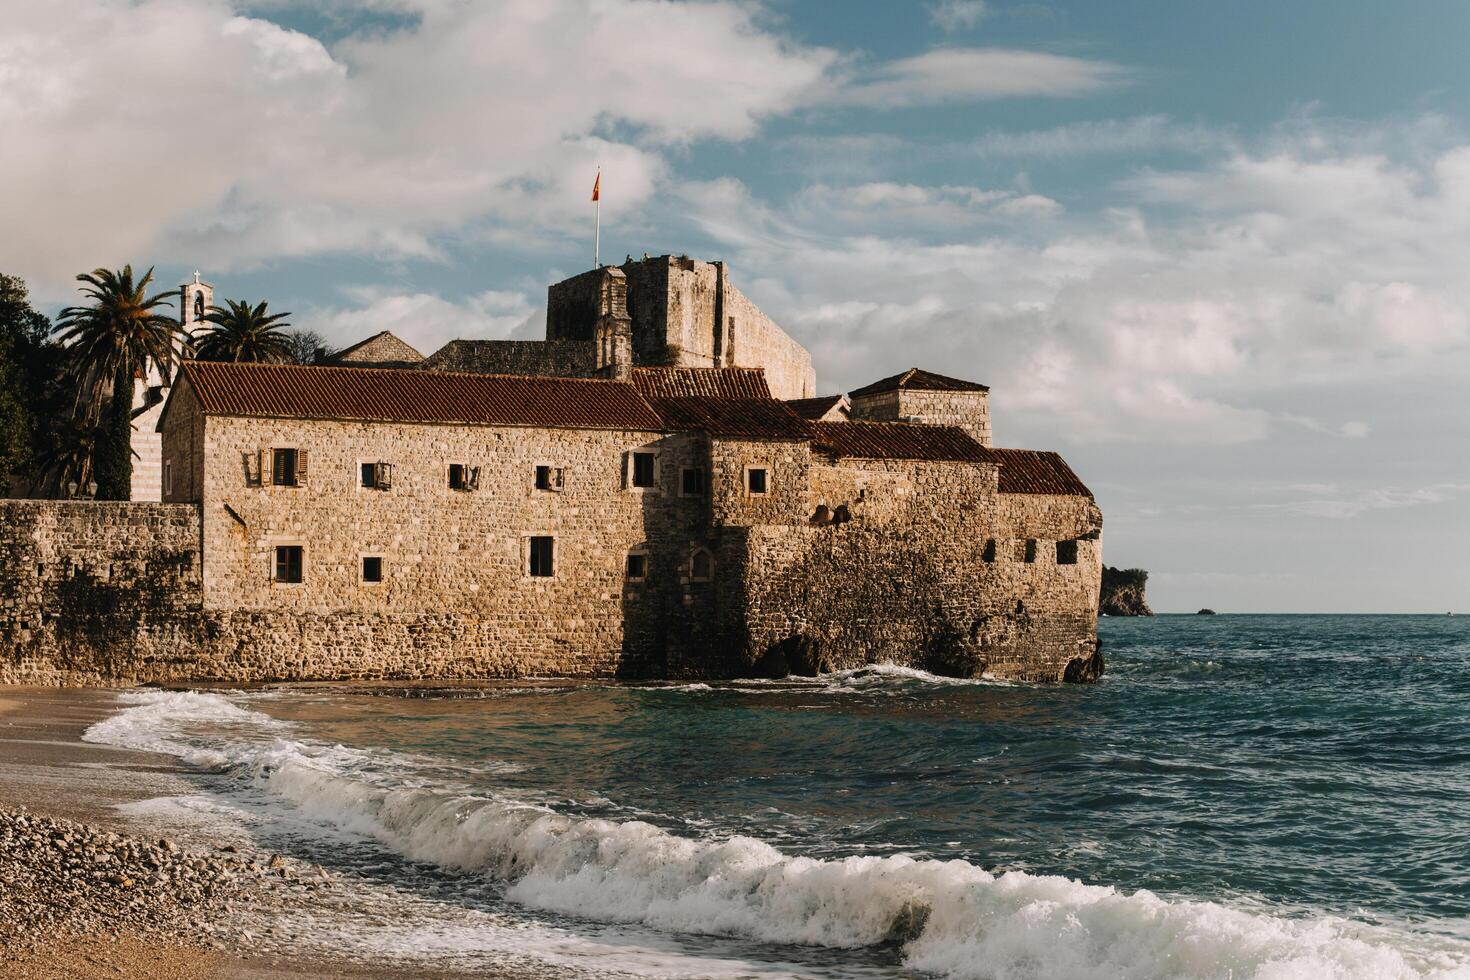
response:
[[[753,669],[891,661],[1061,680],[1092,655],[1092,501],[998,495],[995,467],[966,463],[816,464],[811,486],[814,502],[845,505],[851,520],[751,527],[728,548],[745,592],[722,608],[742,610],[729,626],[745,630]],[[1076,542],[1066,545],[1076,564],[1057,561],[1057,541]]]

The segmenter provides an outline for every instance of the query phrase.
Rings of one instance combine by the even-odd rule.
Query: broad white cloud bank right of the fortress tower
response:
[[[1003,444],[1363,439],[1372,419],[1266,406],[1470,353],[1467,162],[1298,128],[1130,178],[1110,197],[1132,206],[881,181],[782,204],[720,181],[685,203],[741,288],[811,345],[823,389],[910,364],[982,381]],[[1028,209],[1051,217],[1000,220]]]

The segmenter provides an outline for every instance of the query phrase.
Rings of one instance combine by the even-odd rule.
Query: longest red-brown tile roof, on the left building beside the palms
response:
[[[206,414],[637,429],[663,422],[626,382],[392,367],[184,361]]]

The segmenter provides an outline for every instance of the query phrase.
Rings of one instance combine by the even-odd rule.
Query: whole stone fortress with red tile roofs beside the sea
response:
[[[150,381],[156,502],[0,502],[0,680],[1101,673],[1067,464],[975,382],[819,397],[723,263],[559,282],[545,341]]]

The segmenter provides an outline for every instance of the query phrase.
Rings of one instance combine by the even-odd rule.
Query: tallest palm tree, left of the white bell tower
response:
[[[62,310],[56,332],[66,345],[68,373],[76,385],[75,414],[106,422],[93,460],[98,500],[128,500],[132,492],[132,379],[154,366],[168,376],[188,350],[184,328],[159,311],[169,294],[148,295],[150,267],[134,281],[132,266],[94,269],[76,276],[91,306]]]

